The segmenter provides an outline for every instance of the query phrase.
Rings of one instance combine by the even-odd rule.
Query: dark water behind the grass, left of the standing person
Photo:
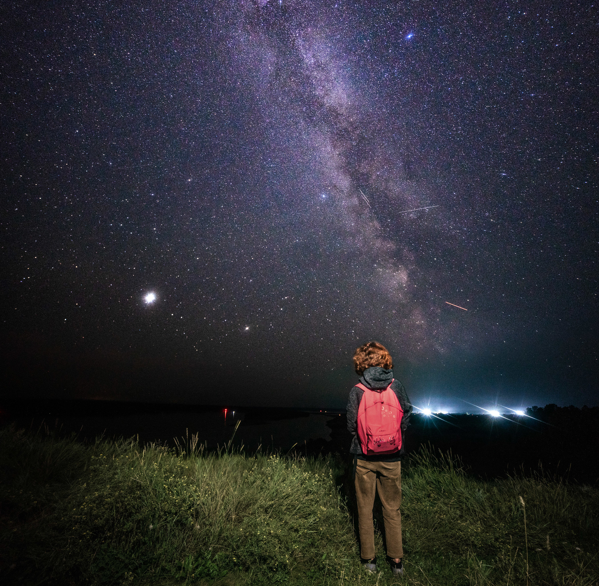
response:
[[[97,436],[132,437],[141,443],[174,445],[197,436],[213,449],[232,441],[247,451],[288,451],[331,440],[326,422],[338,412],[294,409],[256,409],[211,406],[119,403],[116,401],[46,401],[31,404],[0,404],[4,423],[37,430],[46,425],[62,434],[76,433],[80,439]],[[239,424],[237,426],[237,424]],[[237,430],[235,428],[237,427]]]

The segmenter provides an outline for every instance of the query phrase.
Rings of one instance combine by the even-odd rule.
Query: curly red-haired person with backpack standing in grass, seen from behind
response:
[[[401,542],[401,456],[403,435],[412,404],[404,385],[393,377],[389,351],[379,342],[356,349],[353,364],[360,377],[347,401],[347,430],[353,434],[353,454],[360,557],[365,569],[376,572],[374,496],[383,505],[387,555],[395,575],[403,574]]]

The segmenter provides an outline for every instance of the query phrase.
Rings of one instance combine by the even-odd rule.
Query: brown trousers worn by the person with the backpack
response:
[[[378,491],[383,505],[387,555],[390,558],[404,557],[401,545],[401,462],[369,462],[358,459],[355,484],[362,559],[370,560],[375,554],[373,523],[375,491]]]

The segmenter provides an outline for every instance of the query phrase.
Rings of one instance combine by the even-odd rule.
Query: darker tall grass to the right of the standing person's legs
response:
[[[422,449],[403,497],[406,560],[433,583],[459,583],[462,568],[476,585],[527,584],[527,575],[530,584],[599,584],[596,489],[540,475],[482,482],[450,454]]]

